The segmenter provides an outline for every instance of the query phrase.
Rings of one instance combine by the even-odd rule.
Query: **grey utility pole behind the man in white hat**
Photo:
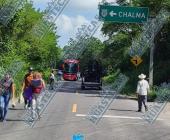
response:
[[[149,85],[153,86],[153,59],[154,59],[154,50],[155,50],[155,44],[154,41],[151,44],[150,48],[150,62],[149,62]]]

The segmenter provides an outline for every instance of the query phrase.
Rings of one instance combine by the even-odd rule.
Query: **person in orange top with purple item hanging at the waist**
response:
[[[32,104],[32,86],[31,86],[31,80],[33,79],[33,68],[30,67],[28,69],[28,73],[24,76],[24,81],[22,83],[22,89],[21,92],[23,94],[24,98],[24,108],[30,108]]]

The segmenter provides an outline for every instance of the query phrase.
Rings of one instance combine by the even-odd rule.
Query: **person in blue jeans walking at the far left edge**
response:
[[[14,81],[9,74],[0,81],[0,121],[6,121],[8,105],[11,98],[14,98]]]

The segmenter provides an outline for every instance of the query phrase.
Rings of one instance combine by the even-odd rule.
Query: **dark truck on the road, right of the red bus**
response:
[[[88,68],[82,72],[81,77],[81,89],[85,89],[86,87],[102,89],[102,67],[96,60],[89,61]]]

